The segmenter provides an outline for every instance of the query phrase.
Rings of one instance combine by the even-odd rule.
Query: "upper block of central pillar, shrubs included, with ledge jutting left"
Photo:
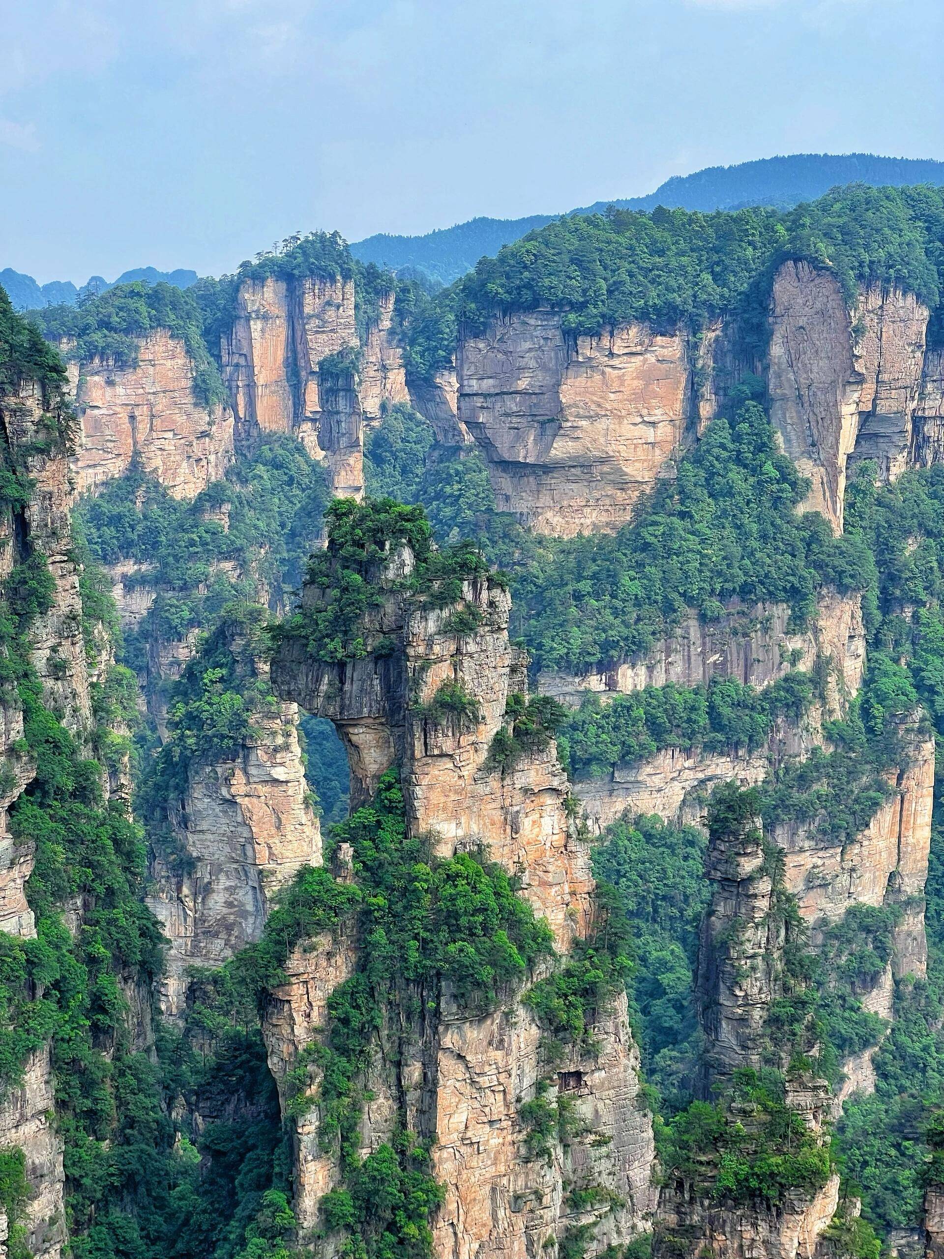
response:
[[[371,560],[360,580],[373,596],[350,631],[357,655],[325,660],[336,651],[322,641],[318,652],[312,635],[335,606],[335,579],[346,580],[329,558],[320,580],[332,584],[306,583],[272,685],[334,721],[355,805],[396,762],[413,831],[432,832],[438,855],[485,846],[521,871],[524,894],[566,948],[590,922],[589,854],[565,810],[550,733],[539,728],[530,745],[509,737],[506,714],[527,704],[525,653],[509,641],[509,593],[473,553],[464,553],[464,572],[459,560],[459,575],[432,575],[435,559],[418,562],[409,545],[393,545]],[[500,758],[496,745],[509,739],[512,750]]]

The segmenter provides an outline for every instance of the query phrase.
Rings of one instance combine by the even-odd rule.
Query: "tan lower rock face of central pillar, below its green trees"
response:
[[[540,1029],[521,1007],[476,1020],[444,1012],[433,1166],[446,1200],[434,1228],[437,1256],[527,1259],[540,1253],[548,1238],[599,1215],[575,1211],[565,1196],[568,1185],[599,1185],[623,1200],[597,1225],[590,1254],[642,1230],[655,1207],[653,1144],[624,997],[600,1020],[598,1035],[597,1056],[571,1053],[550,1075],[551,1099],[563,1094],[573,1100],[588,1131],[573,1142],[554,1142],[550,1162],[527,1160],[519,1108],[548,1075]]]

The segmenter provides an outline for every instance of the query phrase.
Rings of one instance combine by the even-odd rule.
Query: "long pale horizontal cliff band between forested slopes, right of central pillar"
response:
[[[822,590],[816,616],[802,630],[790,626],[783,603],[745,607],[730,599],[721,617],[705,621],[690,612],[672,633],[644,658],[614,662],[583,675],[545,671],[539,690],[578,706],[587,691],[603,697],[628,695],[646,686],[704,686],[712,677],[733,677],[744,685],[767,686],[790,669],[811,672],[817,661],[831,665],[831,714],[852,699],[865,667],[865,630],[861,597]]]

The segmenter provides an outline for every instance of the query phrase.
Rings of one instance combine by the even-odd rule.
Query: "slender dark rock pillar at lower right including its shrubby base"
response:
[[[809,1256],[838,1205],[840,1177],[823,1128],[829,1090],[797,1055],[814,1049],[809,1016],[780,1013],[808,980],[797,966],[801,943],[789,910],[777,847],[765,840],[756,797],[729,784],[709,815],[706,875],[712,895],[699,946],[699,1017],[705,1032],[701,1088],[720,1098],[717,1128],[687,1157],[670,1155],[656,1224],[657,1255],[793,1259]],[[780,1022],[778,1022],[778,1019]],[[763,1068],[783,1073],[778,1102]],[[787,1127],[789,1137],[782,1131]],[[758,1194],[725,1177],[729,1133],[745,1165],[763,1151],[803,1148],[806,1173]],[[779,1136],[778,1136],[779,1133]],[[802,1156],[801,1156],[802,1157]],[[760,1173],[763,1176],[763,1173]]]

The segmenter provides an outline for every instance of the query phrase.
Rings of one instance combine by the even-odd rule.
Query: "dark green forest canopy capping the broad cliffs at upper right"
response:
[[[561,311],[573,334],[634,320],[697,330],[734,313],[761,342],[770,278],[788,258],[834,271],[850,298],[856,283],[879,282],[934,308],[944,190],[853,184],[785,212],[657,206],[561,218],[482,258],[432,298],[409,330],[409,353],[430,374],[449,361],[461,325],[481,330],[493,315],[544,307]]]

